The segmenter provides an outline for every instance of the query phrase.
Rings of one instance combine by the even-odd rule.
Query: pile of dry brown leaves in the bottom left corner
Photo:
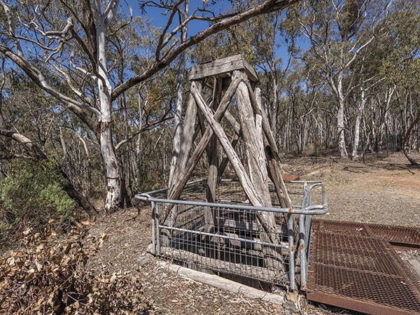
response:
[[[24,232],[25,249],[0,258],[0,314],[147,314],[151,300],[127,274],[86,272],[107,236],[90,237],[80,223],[63,239]]]

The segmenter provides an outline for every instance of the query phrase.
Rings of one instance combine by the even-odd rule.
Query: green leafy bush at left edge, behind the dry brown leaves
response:
[[[66,194],[66,180],[50,160],[13,160],[0,181],[0,234],[29,225],[42,230],[50,218],[62,225],[77,218],[76,202]]]

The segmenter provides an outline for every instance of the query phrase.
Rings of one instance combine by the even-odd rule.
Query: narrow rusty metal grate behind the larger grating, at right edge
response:
[[[401,225],[385,225],[374,223],[352,223],[344,221],[314,220],[313,230],[373,237],[389,241],[393,245],[420,248],[420,229]]]

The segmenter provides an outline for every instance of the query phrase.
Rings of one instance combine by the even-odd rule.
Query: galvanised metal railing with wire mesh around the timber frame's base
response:
[[[167,188],[135,197],[151,202],[155,255],[295,290],[296,282],[306,286],[311,216],[325,214],[328,206],[323,183],[288,181],[286,185],[293,204],[300,204],[291,209],[277,208],[274,187],[270,189],[273,207],[253,207],[233,180],[219,183],[216,203],[206,202],[206,180],[188,183],[180,200],[168,200]],[[312,204],[315,188],[321,188],[318,205]],[[275,226],[263,227],[262,216],[274,216]]]

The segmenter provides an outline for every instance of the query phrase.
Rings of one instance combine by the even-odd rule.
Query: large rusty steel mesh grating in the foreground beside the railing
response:
[[[315,231],[306,290],[308,300],[355,311],[420,314],[420,282],[381,239]]]

